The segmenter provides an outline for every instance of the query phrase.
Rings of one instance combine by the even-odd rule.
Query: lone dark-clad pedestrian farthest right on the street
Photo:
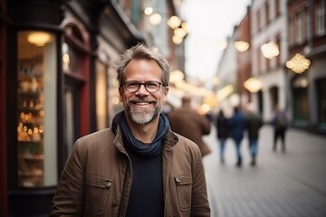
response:
[[[273,125],[273,151],[277,149],[278,139],[281,139],[281,148],[282,151],[286,151],[285,146],[285,134],[288,128],[288,118],[285,111],[279,108],[278,105],[275,106],[274,114],[272,118]]]

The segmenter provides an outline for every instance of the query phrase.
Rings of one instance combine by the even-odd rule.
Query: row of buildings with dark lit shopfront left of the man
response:
[[[48,215],[75,139],[122,109],[122,52],[145,42],[184,68],[183,43],[166,23],[179,2],[0,0],[1,216]],[[164,22],[150,24],[148,6]]]

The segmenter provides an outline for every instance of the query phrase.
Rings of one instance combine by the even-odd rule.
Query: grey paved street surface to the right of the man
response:
[[[260,135],[257,165],[250,165],[244,139],[241,168],[231,139],[221,165],[216,128],[204,138],[212,150],[203,159],[212,217],[326,216],[326,137],[290,129],[282,153],[272,151],[272,127],[264,126]]]

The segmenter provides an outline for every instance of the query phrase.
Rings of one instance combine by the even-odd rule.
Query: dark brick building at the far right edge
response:
[[[326,1],[288,1],[292,125],[326,133]]]

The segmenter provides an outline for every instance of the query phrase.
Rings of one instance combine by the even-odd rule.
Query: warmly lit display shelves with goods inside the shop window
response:
[[[43,67],[42,60],[19,62],[17,98],[18,184],[43,184]]]

